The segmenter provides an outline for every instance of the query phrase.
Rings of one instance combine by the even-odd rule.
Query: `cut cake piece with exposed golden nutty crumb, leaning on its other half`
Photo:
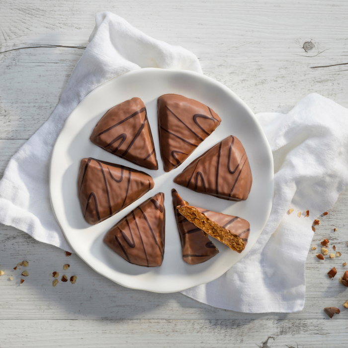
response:
[[[177,210],[196,227],[232,250],[241,253],[245,249],[250,234],[247,220],[191,205],[180,205]]]

